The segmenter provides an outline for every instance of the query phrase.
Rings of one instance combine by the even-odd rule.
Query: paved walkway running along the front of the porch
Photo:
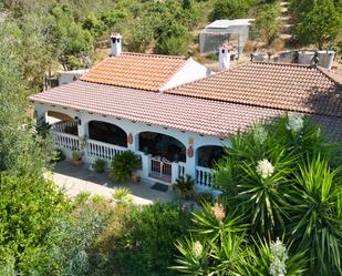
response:
[[[80,167],[70,161],[59,162],[54,168],[53,181],[70,196],[82,192],[92,195],[103,195],[112,198],[113,187],[127,187],[132,191],[133,203],[137,205],[152,204],[155,201],[170,202],[176,198],[173,191],[159,192],[151,188],[147,183],[116,183],[107,177],[107,173],[99,174],[89,170],[89,164]]]

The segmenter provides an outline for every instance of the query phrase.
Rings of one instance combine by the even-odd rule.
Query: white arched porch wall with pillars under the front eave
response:
[[[55,111],[61,112],[64,114],[68,114],[72,117],[77,116],[81,120],[81,125],[79,125],[79,136],[89,136],[89,130],[87,130],[87,123],[90,121],[102,121],[115,124],[123,129],[126,134],[128,135],[132,133],[133,135],[133,144],[128,145],[128,149],[137,152],[138,151],[138,134],[141,132],[157,132],[162,134],[166,134],[169,136],[173,136],[180,141],[186,149],[189,147],[189,140],[194,140],[194,156],[193,157],[186,157],[186,174],[191,175],[194,178],[196,176],[196,163],[197,163],[197,149],[204,145],[219,145],[219,146],[231,146],[231,143],[229,140],[221,140],[216,136],[209,136],[209,135],[200,135],[193,132],[183,132],[176,129],[166,129],[158,125],[147,125],[139,122],[133,122],[128,120],[121,120],[117,117],[111,117],[111,116],[103,116],[99,114],[91,114],[83,111],[74,111],[71,109],[63,109],[60,106],[49,106],[44,104],[34,103],[34,110],[38,117],[44,117],[45,113],[48,111]],[[146,174],[145,174],[146,175]]]

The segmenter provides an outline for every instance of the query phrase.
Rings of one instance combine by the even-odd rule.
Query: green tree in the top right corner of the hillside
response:
[[[302,44],[317,44],[319,49],[333,42],[342,31],[341,11],[341,6],[333,0],[314,0],[312,9],[300,14],[301,21],[296,28],[297,39]]]

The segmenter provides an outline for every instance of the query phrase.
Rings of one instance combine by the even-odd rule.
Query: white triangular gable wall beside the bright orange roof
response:
[[[180,84],[199,80],[207,75],[210,75],[211,71],[201,65],[200,63],[189,59],[183,69],[180,69],[162,89],[160,91],[165,91],[167,89],[172,89],[178,86]]]

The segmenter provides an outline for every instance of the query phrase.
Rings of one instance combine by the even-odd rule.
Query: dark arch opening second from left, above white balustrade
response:
[[[120,126],[101,121],[89,122],[89,137],[100,142],[127,147],[127,134]]]

